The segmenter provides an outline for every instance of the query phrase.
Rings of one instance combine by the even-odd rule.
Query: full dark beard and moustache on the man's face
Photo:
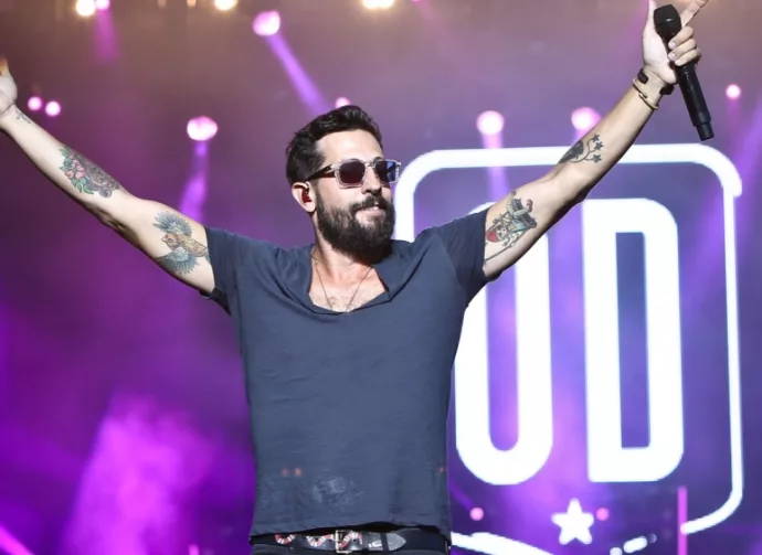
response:
[[[315,202],[318,231],[336,250],[369,262],[389,253],[395,215],[394,205],[383,196],[368,196],[347,209],[328,209],[316,191]],[[371,206],[378,206],[382,214],[362,224],[357,213]]]

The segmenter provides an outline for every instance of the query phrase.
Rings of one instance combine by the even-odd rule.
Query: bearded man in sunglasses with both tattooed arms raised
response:
[[[684,24],[707,2],[694,0]],[[629,148],[676,82],[670,62],[699,58],[687,26],[665,49],[653,12],[643,71],[557,167],[413,243],[391,239],[400,164],[357,107],[292,140],[286,173],[315,244],[283,249],[129,194],[33,124],[2,68],[0,128],[100,222],[231,313],[257,462],[256,552],[447,552],[445,426],[464,311]]]

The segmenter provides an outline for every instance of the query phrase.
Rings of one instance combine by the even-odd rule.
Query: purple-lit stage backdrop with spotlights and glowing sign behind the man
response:
[[[338,97],[410,164],[406,237],[546,171],[558,152],[537,148],[568,147],[575,109],[605,113],[629,86],[645,18],[641,0],[74,3],[0,0],[20,105],[57,100],[57,117],[28,113],[135,194],[284,246],[311,241],[285,146]],[[268,10],[279,32],[258,36]],[[760,21],[759,1],[713,0],[695,22],[713,141],[698,149],[668,98],[627,163],[469,308],[458,551],[762,554]],[[487,110],[501,132],[477,128]],[[187,132],[199,116],[218,126],[207,142]],[[477,150],[495,147],[485,169]],[[415,161],[461,149],[476,150]],[[0,168],[0,553],[246,553],[253,457],[226,316],[8,140]]]

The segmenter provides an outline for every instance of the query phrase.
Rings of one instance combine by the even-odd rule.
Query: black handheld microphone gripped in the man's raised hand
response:
[[[656,32],[665,44],[669,44],[677,33],[682,29],[680,14],[673,4],[657,8],[654,12],[654,24]],[[696,75],[696,62],[690,62],[681,66],[675,66],[677,83],[680,85],[682,98],[685,98],[688,114],[694,127],[698,130],[699,138],[705,141],[715,137],[711,128],[711,115],[707,107],[707,100],[701,92],[701,84]]]

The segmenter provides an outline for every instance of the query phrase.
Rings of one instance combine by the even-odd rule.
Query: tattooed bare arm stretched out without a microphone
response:
[[[138,199],[114,178],[62,145],[15,106],[17,88],[0,61],[0,130],[71,199],[180,281],[214,289],[204,227],[161,203]]]

